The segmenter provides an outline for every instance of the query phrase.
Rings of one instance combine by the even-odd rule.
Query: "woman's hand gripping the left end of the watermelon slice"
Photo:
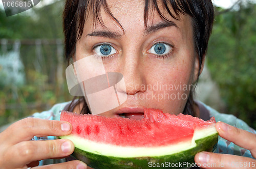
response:
[[[0,133],[0,168],[24,168],[38,165],[48,158],[63,158],[74,151],[74,144],[68,139],[30,140],[34,136],[61,136],[70,134],[72,126],[63,121],[26,118]],[[86,168],[81,161],[69,161],[38,168]],[[35,167],[37,168],[37,167]]]

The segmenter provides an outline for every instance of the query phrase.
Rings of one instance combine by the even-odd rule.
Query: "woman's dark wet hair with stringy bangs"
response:
[[[150,15],[151,9],[156,10],[164,21],[172,22],[163,16],[159,9],[159,3],[162,3],[161,5],[164,7],[164,10],[177,20],[179,20],[179,15],[188,15],[191,17],[195,52],[199,58],[199,66],[201,70],[214,22],[214,6],[212,5],[211,0],[145,0],[144,2],[145,27],[147,26],[147,19],[148,15]],[[63,32],[65,34],[65,57],[68,62],[75,53],[76,42],[83,33],[83,26],[88,14],[92,14],[94,25],[98,21],[103,27],[105,27],[100,17],[100,10],[102,8],[122,28],[122,25],[109,9],[106,0],[66,0],[65,9],[63,11]],[[170,12],[170,8],[173,8],[174,13]],[[90,113],[84,98],[79,98],[78,100],[77,104],[79,104],[80,101],[84,102],[81,113]],[[193,105],[193,91],[190,91],[183,113],[194,115]]]

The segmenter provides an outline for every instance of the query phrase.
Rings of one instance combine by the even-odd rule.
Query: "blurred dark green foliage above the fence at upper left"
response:
[[[62,10],[63,1],[10,17],[0,9],[0,39],[62,38]]]

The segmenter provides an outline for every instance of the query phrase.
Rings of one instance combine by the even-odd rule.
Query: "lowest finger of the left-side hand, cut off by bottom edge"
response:
[[[37,166],[33,169],[89,169],[87,165],[81,161],[74,160],[69,162],[63,162],[59,164],[51,164],[51,165],[45,165],[45,166]]]

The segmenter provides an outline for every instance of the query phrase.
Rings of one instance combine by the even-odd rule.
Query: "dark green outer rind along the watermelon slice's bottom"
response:
[[[66,137],[68,138],[68,137]],[[94,169],[105,169],[105,168],[151,168],[149,164],[160,164],[168,163],[168,166],[172,164],[180,163],[194,163],[194,157],[198,152],[201,151],[212,151],[218,142],[218,133],[209,135],[207,137],[195,140],[197,146],[179,153],[157,156],[157,157],[128,157],[120,158],[113,156],[103,156],[99,154],[94,154],[87,152],[78,148],[75,148],[73,156],[80,161],[83,161],[88,164],[88,166]],[[110,150],[111,151],[111,150]],[[150,163],[151,162],[151,163]],[[177,166],[177,165],[176,165]],[[179,165],[181,166],[181,165]],[[158,167],[166,168],[166,167]],[[172,167],[169,167],[172,168]],[[173,167],[173,168],[186,168],[182,167]]]

